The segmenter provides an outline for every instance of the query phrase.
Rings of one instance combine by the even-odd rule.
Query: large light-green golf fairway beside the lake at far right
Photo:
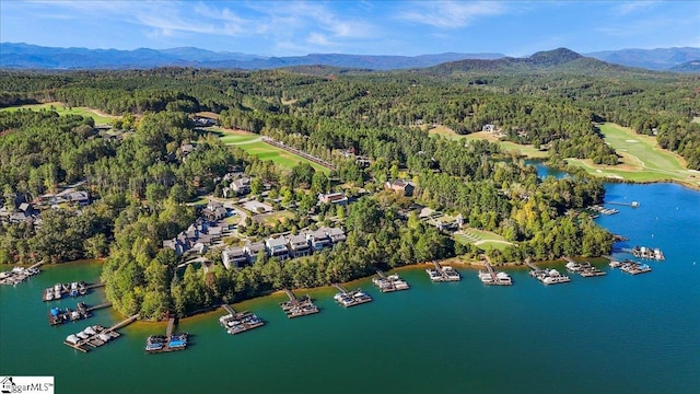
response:
[[[660,148],[654,137],[610,123],[599,127],[605,141],[622,157],[621,164],[595,165],[591,160],[568,159],[570,164],[597,176],[634,182],[675,181],[700,188],[700,173],[687,170],[682,158]]]

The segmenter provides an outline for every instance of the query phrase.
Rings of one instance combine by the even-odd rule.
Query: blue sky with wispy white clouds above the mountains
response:
[[[275,56],[700,47],[700,1],[0,0],[0,40]]]

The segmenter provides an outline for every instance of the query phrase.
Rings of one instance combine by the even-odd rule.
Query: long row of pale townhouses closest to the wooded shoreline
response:
[[[226,247],[221,253],[221,259],[226,268],[236,268],[255,263],[261,251],[270,257],[288,259],[308,256],[345,240],[346,233],[342,229],[320,228],[315,231],[302,231],[299,234],[271,236],[265,241],[248,242],[245,246]]]

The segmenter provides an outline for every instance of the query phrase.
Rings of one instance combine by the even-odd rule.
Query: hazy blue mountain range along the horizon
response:
[[[272,69],[299,66],[331,66],[371,70],[417,69],[443,65],[443,69],[457,67],[508,70],[527,67],[546,67],[547,62],[574,61],[574,68],[593,58],[628,67],[650,70],[698,72],[700,48],[621,49],[585,54],[568,50],[555,55],[538,53],[528,58],[511,58],[503,54],[436,54],[421,56],[310,54],[305,56],[266,57],[241,53],[212,51],[194,47],[135,50],[55,48],[28,44],[0,44],[0,68],[10,69],[143,69],[165,66],[220,68],[220,69]],[[545,55],[549,54],[549,55]],[[573,54],[573,55],[572,55]],[[575,57],[574,57],[575,55]],[[564,58],[561,58],[561,57]],[[489,62],[500,59],[500,62]],[[582,60],[583,59],[583,60]],[[576,65],[578,61],[581,65]],[[446,65],[445,65],[446,63]],[[450,66],[452,65],[452,66]],[[596,65],[600,67],[600,65]]]

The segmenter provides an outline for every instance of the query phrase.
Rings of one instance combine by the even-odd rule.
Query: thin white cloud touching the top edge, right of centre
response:
[[[500,15],[508,11],[505,3],[497,1],[427,1],[407,4],[411,9],[399,11],[396,18],[439,28],[465,27],[480,16]]]

